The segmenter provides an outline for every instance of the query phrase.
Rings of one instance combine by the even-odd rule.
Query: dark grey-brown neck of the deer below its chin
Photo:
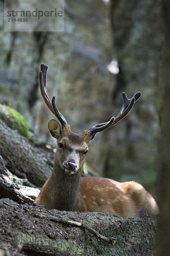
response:
[[[55,209],[74,211],[79,198],[80,180],[81,170],[68,175],[59,166],[54,166],[50,186]]]

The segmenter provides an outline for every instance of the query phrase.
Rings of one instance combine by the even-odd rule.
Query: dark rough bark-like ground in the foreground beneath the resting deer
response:
[[[122,218],[3,202],[0,209],[0,245],[8,241],[14,256],[154,255],[156,217]]]

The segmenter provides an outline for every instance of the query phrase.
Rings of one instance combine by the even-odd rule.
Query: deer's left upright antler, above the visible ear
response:
[[[39,72],[39,82],[40,82],[40,90],[42,97],[45,101],[47,107],[51,110],[51,112],[57,117],[59,122],[61,122],[62,128],[67,126],[67,121],[65,120],[64,116],[59,112],[56,103],[55,103],[55,96],[52,97],[52,103],[47,95],[47,85],[46,85],[46,74],[47,74],[48,66],[41,64],[40,72]]]

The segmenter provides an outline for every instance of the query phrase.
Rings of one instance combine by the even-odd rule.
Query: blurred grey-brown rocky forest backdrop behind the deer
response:
[[[41,63],[48,65],[48,96],[56,96],[77,133],[116,116],[122,92],[129,98],[142,92],[125,119],[96,135],[87,163],[100,176],[138,181],[155,197],[165,40],[161,4],[65,0],[65,32],[0,32],[0,104],[23,114],[41,141],[56,145],[47,127],[54,116],[40,95]]]

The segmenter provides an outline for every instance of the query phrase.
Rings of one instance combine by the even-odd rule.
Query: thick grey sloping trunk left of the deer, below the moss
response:
[[[42,186],[51,173],[49,166],[25,137],[0,120],[0,155],[6,167],[18,177],[27,177],[36,186]]]

